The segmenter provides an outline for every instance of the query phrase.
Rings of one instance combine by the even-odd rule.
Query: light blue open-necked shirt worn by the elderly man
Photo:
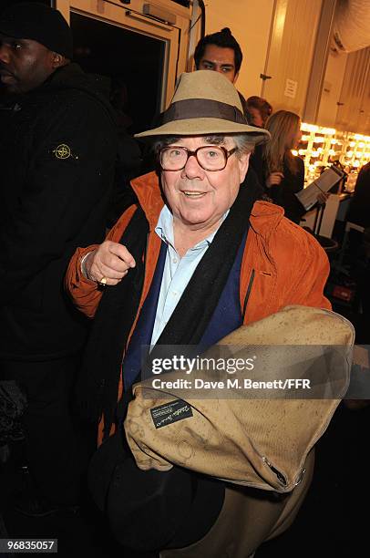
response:
[[[228,212],[224,214],[223,219],[225,219],[227,214]],[[217,230],[200,243],[190,248],[188,252],[180,258],[174,246],[172,213],[166,205],[160,212],[155,231],[159,235],[159,238],[167,244],[167,253],[162,283],[160,285],[157,314],[151,336],[152,346],[157,343],[160,334],[170,320],[170,316],[176,308],[181,294],[190,282],[191,275],[196,270],[201,258],[207,252]]]

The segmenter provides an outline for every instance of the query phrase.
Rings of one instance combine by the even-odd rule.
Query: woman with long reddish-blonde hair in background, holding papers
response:
[[[265,128],[271,133],[263,151],[267,194],[283,207],[288,219],[299,224],[305,210],[294,194],[303,189],[304,163],[291,150],[301,140],[301,119],[289,110],[278,110],[267,119]]]

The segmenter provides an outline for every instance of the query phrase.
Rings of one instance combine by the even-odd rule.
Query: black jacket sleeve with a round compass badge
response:
[[[96,208],[107,206],[117,150],[108,113],[77,92],[46,110],[33,134],[26,183],[1,232],[0,305],[77,245],[100,242],[89,238],[94,230],[104,233]]]

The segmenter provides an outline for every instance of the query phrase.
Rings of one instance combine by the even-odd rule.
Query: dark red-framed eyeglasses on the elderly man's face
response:
[[[204,171],[222,171],[229,157],[237,149],[235,147],[228,151],[219,145],[206,145],[191,151],[178,145],[171,145],[159,150],[159,164],[162,171],[181,171],[188,159],[194,156]]]

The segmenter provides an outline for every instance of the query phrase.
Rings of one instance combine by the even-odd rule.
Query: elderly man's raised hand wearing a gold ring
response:
[[[105,241],[93,252],[88,253],[84,261],[84,274],[91,281],[105,284],[118,284],[136,263],[126,246]]]

